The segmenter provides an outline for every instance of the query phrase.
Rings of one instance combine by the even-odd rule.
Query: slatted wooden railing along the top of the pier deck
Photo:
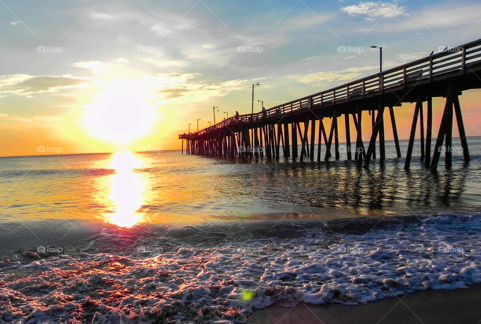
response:
[[[381,73],[355,80],[307,97],[296,99],[254,114],[233,116],[187,136],[201,136],[224,127],[260,123],[276,117],[289,116],[311,107],[345,103],[366,96],[394,91],[420,81],[431,81],[441,74],[467,72],[471,65],[481,63],[481,39],[443,52],[392,68]],[[180,138],[180,136],[179,136]]]

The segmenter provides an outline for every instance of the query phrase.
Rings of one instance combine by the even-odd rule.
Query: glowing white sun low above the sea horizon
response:
[[[146,136],[155,117],[149,98],[145,82],[111,81],[105,91],[86,107],[85,127],[95,138],[117,144],[127,144]]]

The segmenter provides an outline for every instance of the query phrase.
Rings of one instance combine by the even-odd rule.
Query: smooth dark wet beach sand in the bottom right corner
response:
[[[467,289],[415,291],[358,305],[273,305],[256,310],[248,324],[479,323],[481,284]]]

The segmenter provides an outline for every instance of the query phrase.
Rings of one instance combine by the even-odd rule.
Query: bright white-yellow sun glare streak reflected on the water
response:
[[[134,153],[113,154],[110,167],[115,174],[109,177],[106,197],[112,209],[105,214],[106,221],[121,227],[132,227],[142,222],[139,208],[144,204],[145,180],[134,169],[141,167],[141,161]]]

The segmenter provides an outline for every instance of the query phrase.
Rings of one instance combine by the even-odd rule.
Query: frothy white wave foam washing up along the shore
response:
[[[481,282],[480,220],[438,214],[362,234],[316,227],[242,245],[5,261],[0,322],[235,323],[273,303],[355,304],[465,288]]]

